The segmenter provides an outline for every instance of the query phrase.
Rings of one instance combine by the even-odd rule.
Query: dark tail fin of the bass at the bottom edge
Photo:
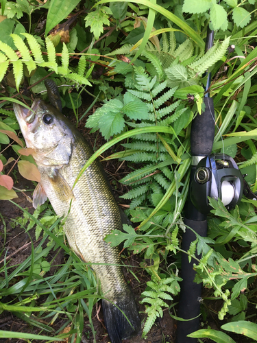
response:
[[[130,338],[140,331],[140,318],[132,292],[118,300],[115,299],[113,303],[102,299],[102,307],[103,320],[112,343],[121,343],[121,340]]]

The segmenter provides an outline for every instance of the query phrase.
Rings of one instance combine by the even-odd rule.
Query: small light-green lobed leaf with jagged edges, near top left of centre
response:
[[[90,26],[90,32],[95,36],[95,39],[98,39],[103,33],[103,25],[110,25],[109,16],[104,12],[106,7],[98,7],[97,10],[88,13],[85,18],[85,26]]]

